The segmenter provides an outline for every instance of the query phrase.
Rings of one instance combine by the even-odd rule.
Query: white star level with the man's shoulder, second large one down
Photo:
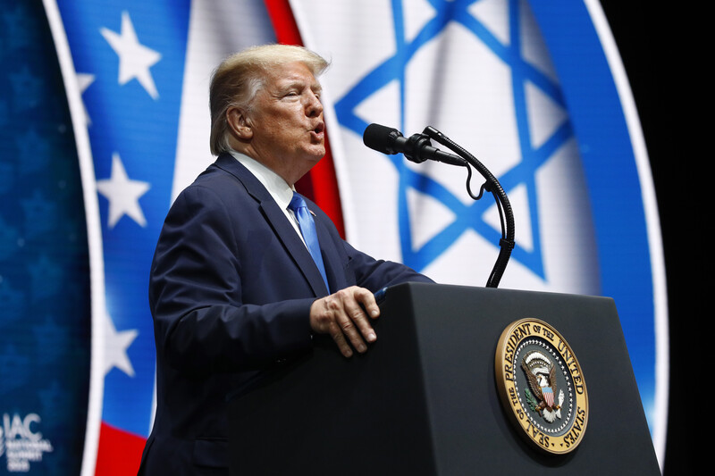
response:
[[[105,180],[97,180],[97,190],[109,200],[109,228],[114,225],[123,215],[130,218],[140,226],[146,226],[147,220],[139,206],[139,197],[147,193],[148,182],[130,180],[124,170],[122,159],[119,154],[112,155],[112,177]]]

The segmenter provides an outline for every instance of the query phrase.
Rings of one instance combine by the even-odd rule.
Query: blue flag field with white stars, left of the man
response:
[[[81,77],[105,258],[103,421],[146,436],[155,347],[147,304],[171,201],[189,1],[59,2]]]

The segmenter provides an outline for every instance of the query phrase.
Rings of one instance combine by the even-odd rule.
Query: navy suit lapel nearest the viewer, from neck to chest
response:
[[[215,164],[240,180],[248,194],[257,200],[265,220],[268,221],[268,224],[275,231],[276,236],[281,240],[293,261],[298,265],[315,296],[327,296],[328,290],[325,288],[323,277],[320,275],[317,266],[315,266],[313,257],[263,184],[230,154],[219,155]],[[323,238],[320,238],[320,235],[318,240],[323,243]]]

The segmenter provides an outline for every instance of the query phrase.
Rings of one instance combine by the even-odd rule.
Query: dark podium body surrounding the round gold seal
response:
[[[660,475],[612,299],[408,283],[380,307],[366,354],[318,338],[231,397],[231,474]],[[523,318],[559,329],[583,372],[590,414],[565,455],[534,448],[501,403],[497,343]]]

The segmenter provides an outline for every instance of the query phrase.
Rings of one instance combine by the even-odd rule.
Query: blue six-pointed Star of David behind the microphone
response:
[[[405,82],[408,63],[423,46],[452,23],[458,23],[471,32],[475,38],[489,48],[499,60],[509,66],[511,71],[511,90],[514,99],[514,114],[517,123],[518,146],[520,161],[505,171],[497,179],[502,188],[509,194],[510,190],[517,187],[526,189],[527,203],[529,204],[529,218],[531,230],[519,230],[517,223],[517,244],[512,252],[512,259],[522,263],[537,276],[544,277],[542,244],[539,233],[538,197],[536,194],[535,173],[546,163],[560,146],[568,139],[573,138],[571,124],[566,119],[551,135],[534,146],[530,136],[530,123],[526,102],[526,84],[538,88],[540,92],[551,99],[554,104],[566,109],[566,104],[561,95],[558,83],[539,71],[533,64],[528,63],[522,54],[520,11],[523,5],[519,0],[509,1],[509,42],[500,41],[483,22],[469,13],[468,8],[478,0],[425,0],[433,6],[434,16],[426,21],[423,28],[414,39],[404,39],[404,17],[400,2],[392,2],[393,24],[396,36],[396,51],[383,63],[378,64],[369,71],[363,79],[359,80],[354,88],[350,89],[335,103],[335,112],[341,125],[353,130],[362,136],[367,127],[367,122],[360,118],[356,109],[359,104],[372,96],[375,92],[385,87],[392,81],[400,84],[400,130],[405,125]],[[426,124],[425,124],[426,125]],[[446,131],[445,131],[446,132]],[[478,154],[475,154],[478,156]],[[465,205],[447,188],[431,179],[429,176],[415,171],[406,166],[401,154],[386,156],[400,174],[399,180],[399,225],[400,246],[404,263],[421,271],[433,263],[442,253],[449,248],[465,231],[474,230],[482,235],[494,246],[499,246],[501,230],[495,230],[490,223],[484,220],[484,204],[473,202]],[[488,166],[488,161],[484,161]],[[413,247],[412,233],[408,215],[408,189],[414,188],[423,194],[428,194],[434,200],[450,209],[456,217],[442,231],[426,241],[422,246]],[[466,192],[465,192],[466,193]],[[519,245],[518,233],[530,233],[533,246],[526,249]]]

